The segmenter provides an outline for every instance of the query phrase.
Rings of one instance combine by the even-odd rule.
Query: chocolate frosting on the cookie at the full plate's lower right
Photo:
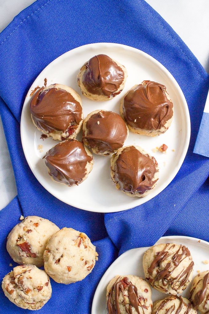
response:
[[[144,194],[157,181],[153,181],[157,172],[156,166],[154,157],[142,154],[134,146],[127,146],[116,160],[114,179],[120,184],[120,190]]]

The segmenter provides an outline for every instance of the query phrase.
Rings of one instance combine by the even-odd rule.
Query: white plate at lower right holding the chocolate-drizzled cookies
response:
[[[209,243],[196,238],[186,236],[168,236],[160,238],[156,244],[160,243],[176,243],[188,247],[192,259],[194,261],[194,278],[198,272],[209,270]],[[144,278],[144,270],[142,259],[144,252],[149,247],[140,247],[129,250],[118,257],[112,265],[104,273],[100,280],[91,307],[91,314],[107,314],[106,288],[110,280],[117,275],[136,275]],[[181,294],[185,298],[189,298],[191,283]],[[152,301],[165,298],[167,295],[152,288]]]

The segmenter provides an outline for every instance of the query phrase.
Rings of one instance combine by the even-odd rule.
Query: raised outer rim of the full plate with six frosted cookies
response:
[[[24,134],[24,123],[23,123],[23,119],[24,119],[24,114],[25,114],[25,111],[26,111],[26,103],[28,101],[28,97],[31,93],[31,89],[34,89],[34,86],[35,86],[35,83],[36,81],[39,79],[39,77],[42,75],[42,73],[44,73],[44,71],[47,70],[47,68],[50,68],[53,66],[53,64],[55,64],[56,62],[59,62],[60,60],[60,57],[63,57],[65,58],[65,56],[67,56],[69,53],[71,53],[72,51],[82,51],[83,49],[98,49],[100,48],[101,46],[101,49],[103,48],[106,48],[107,49],[107,45],[108,45],[108,48],[116,48],[116,47],[121,47],[125,50],[129,50],[131,52],[136,52],[137,54],[140,54],[141,56],[145,57],[149,62],[151,63],[154,63],[157,67],[159,68],[162,68],[164,73],[169,77],[172,85],[175,86],[175,88],[178,90],[179,92],[179,95],[181,97],[181,100],[183,101],[183,109],[184,109],[184,112],[185,112],[185,118],[186,118],[186,125],[185,125],[185,139],[184,139],[184,148],[182,149],[182,153],[180,155],[180,158],[178,158],[178,161],[175,165],[175,168],[174,168],[174,171],[172,171],[172,176],[170,177],[171,180],[170,182],[167,184],[165,184],[164,182],[161,183],[161,189],[159,191],[158,194],[156,195],[153,195],[152,197],[149,197],[147,200],[144,199],[143,202],[141,203],[137,203],[137,204],[130,204],[126,206],[123,206],[120,205],[119,208],[116,208],[115,209],[115,205],[114,205],[114,208],[112,208],[112,210],[109,210],[109,207],[106,206],[107,209],[105,209],[104,207],[99,207],[99,205],[97,205],[97,208],[95,209],[94,206],[93,209],[92,207],[89,205],[88,208],[85,207],[85,206],[79,206],[79,204],[76,205],[75,202],[66,202],[65,200],[63,200],[61,197],[58,197],[57,195],[55,196],[51,191],[50,191],[50,188],[47,188],[47,184],[44,184],[44,179],[43,180],[40,180],[39,178],[39,175],[36,174],[36,172],[34,171],[34,166],[32,165],[32,163],[30,162],[29,160],[29,157],[27,155],[27,150],[25,148],[25,145],[24,145],[24,140],[23,140],[23,134]],[[175,78],[173,77],[173,75],[169,72],[169,70],[167,68],[165,68],[165,66],[160,63],[158,60],[156,60],[154,57],[150,56],[149,54],[147,54],[146,52],[142,51],[142,50],[139,50],[135,47],[132,47],[132,46],[128,46],[128,45],[124,45],[124,44],[120,44],[120,43],[109,43],[109,42],[99,42],[99,43],[91,43],[91,44],[86,44],[86,45],[82,45],[82,46],[78,46],[76,48],[73,48],[69,51],[66,51],[65,53],[61,54],[60,56],[56,57],[53,61],[51,61],[39,74],[38,76],[35,78],[35,80],[33,81],[32,85],[30,86],[27,94],[26,94],[26,97],[25,97],[25,100],[24,100],[24,105],[23,105],[23,108],[22,108],[22,112],[21,112],[21,121],[20,121],[20,136],[21,136],[21,143],[22,143],[22,147],[23,147],[23,151],[24,151],[24,156],[26,158],[26,161],[29,165],[29,168],[30,170],[33,172],[35,178],[39,181],[39,183],[50,193],[52,194],[55,198],[59,199],[60,201],[62,201],[63,203],[66,203],[70,206],[73,206],[75,208],[80,208],[82,210],[86,210],[86,211],[91,211],[91,212],[97,212],[97,213],[112,213],[112,212],[120,212],[120,211],[124,211],[124,210],[128,210],[128,209],[131,209],[131,208],[134,208],[136,206],[140,206],[144,203],[146,203],[147,201],[151,200],[152,198],[158,196],[170,183],[171,181],[173,181],[173,179],[175,178],[175,176],[177,175],[177,173],[179,172],[184,160],[185,160],[185,156],[187,154],[187,151],[188,151],[188,148],[189,148],[189,143],[190,143],[190,137],[191,137],[191,120],[190,120],[190,113],[189,113],[189,108],[188,108],[188,105],[187,105],[187,102],[186,102],[186,99],[185,99],[185,96],[183,94],[183,91],[181,90],[178,82],[175,80]],[[41,181],[41,182],[40,182]],[[122,192],[121,192],[122,193]],[[70,199],[70,198],[69,198]],[[133,205],[133,206],[132,206]],[[131,206],[131,207],[130,207]]]

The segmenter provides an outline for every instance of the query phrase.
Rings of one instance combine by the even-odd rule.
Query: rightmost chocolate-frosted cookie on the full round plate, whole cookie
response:
[[[121,101],[120,114],[133,133],[149,136],[165,133],[173,113],[166,87],[152,81],[133,86]]]

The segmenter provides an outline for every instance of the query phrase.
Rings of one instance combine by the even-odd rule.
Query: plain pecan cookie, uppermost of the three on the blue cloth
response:
[[[28,216],[10,231],[7,251],[18,264],[44,266],[44,250],[48,239],[60,230],[53,222],[38,216]]]

